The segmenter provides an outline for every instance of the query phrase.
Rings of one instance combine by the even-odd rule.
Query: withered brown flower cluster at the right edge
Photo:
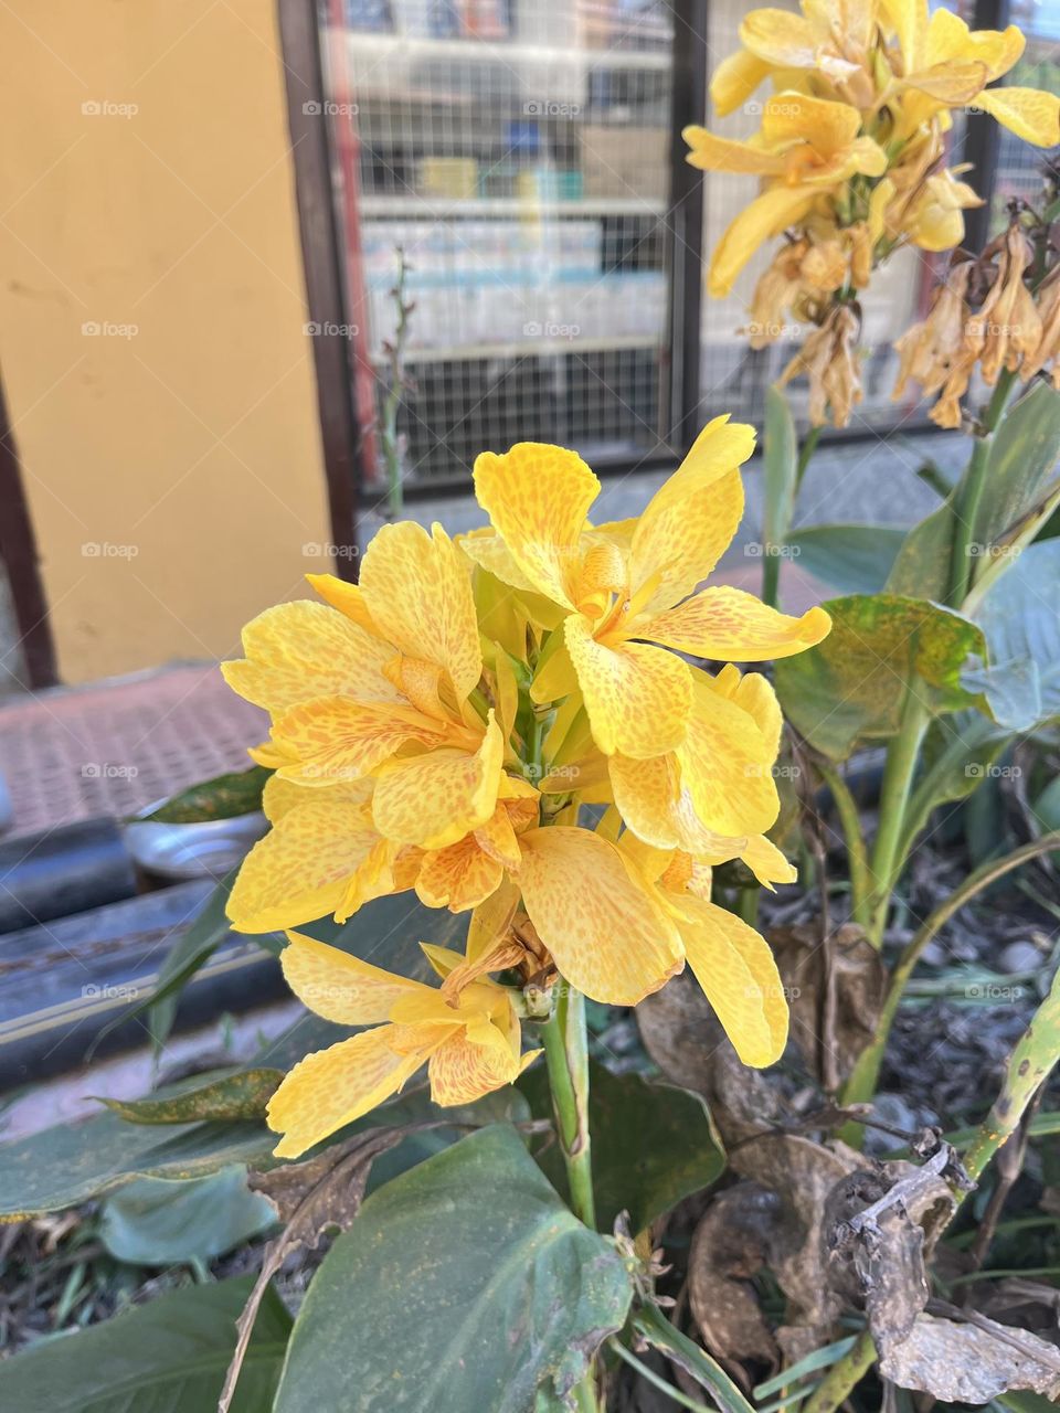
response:
[[[1047,232],[1039,227],[1039,235]],[[913,379],[926,397],[938,398],[931,421],[960,427],[961,398],[977,367],[989,387],[1008,369],[1023,382],[1047,372],[1060,389],[1060,266],[1036,268],[1035,254],[1016,211],[982,256],[955,252],[927,318],[895,345],[900,356],[895,398]]]

